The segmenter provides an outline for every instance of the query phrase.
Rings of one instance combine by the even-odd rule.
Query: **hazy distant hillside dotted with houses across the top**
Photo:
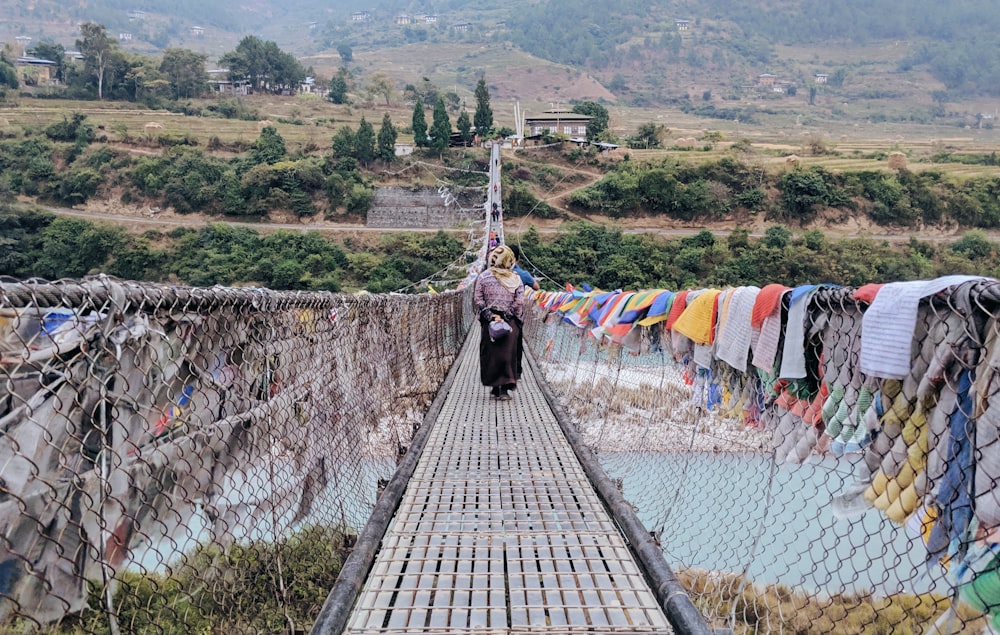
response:
[[[360,11],[366,19],[352,20]],[[312,65],[320,80],[346,59],[362,84],[386,71],[400,88],[429,77],[464,96],[485,73],[498,98],[546,107],[593,99],[799,125],[991,126],[1000,114],[1000,59],[983,54],[1000,43],[989,0],[595,0],[586,9],[569,0],[488,8],[471,0],[0,0],[0,14],[0,41],[17,53],[19,36],[72,48],[84,21],[128,34],[126,51],[189,48],[210,63],[255,34]],[[398,24],[400,15],[410,23]],[[762,74],[773,76],[773,87]]]

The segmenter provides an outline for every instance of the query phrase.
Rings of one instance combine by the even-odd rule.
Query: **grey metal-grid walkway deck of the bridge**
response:
[[[478,328],[349,633],[669,633],[531,369],[479,383]]]

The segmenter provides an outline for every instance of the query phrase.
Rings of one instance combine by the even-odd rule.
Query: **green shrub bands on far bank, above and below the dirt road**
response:
[[[459,234],[388,233],[364,240],[344,232],[265,233],[225,223],[139,233],[13,204],[17,196],[53,205],[103,198],[219,221],[267,220],[283,211],[302,219],[357,222],[380,182],[419,184],[419,179],[394,181],[384,174],[390,166],[397,173],[418,162],[423,169],[428,162],[458,167],[468,171],[442,171],[444,178],[472,186],[481,180],[476,172],[486,169],[487,154],[474,148],[446,150],[440,158],[418,155],[403,160],[402,167],[395,157],[369,156],[358,139],[374,145],[375,135],[362,135],[363,125],[341,126],[327,148],[289,151],[277,130],[266,126],[243,151],[213,151],[212,143],[203,149],[197,137],[174,136],[147,140],[156,152],[138,156],[129,152],[133,146],[109,141],[80,113],[41,128],[8,131],[0,140],[0,196],[7,201],[0,209],[0,274],[54,279],[103,271],[191,285],[423,290],[426,280],[449,265],[466,264]],[[387,115],[382,128],[392,125]],[[554,238],[529,228],[511,240],[516,237],[525,262],[550,278],[549,285],[560,286],[566,281],[602,288],[858,285],[954,272],[1000,275],[997,245],[987,233],[1000,226],[1000,177],[956,176],[938,167],[880,168],[884,153],[870,158],[872,168],[834,171],[820,164],[770,170],[747,158],[748,145],[734,144],[701,160],[678,158],[691,153],[609,160],[570,144],[514,155],[504,164],[504,209],[509,221],[522,216],[529,225],[535,218],[565,217],[566,209],[542,199],[557,184],[582,178],[578,171],[586,168],[597,175],[588,178],[598,180],[566,197],[568,212],[577,219],[645,216],[682,225],[768,219],[772,225],[761,237],[737,228],[728,237],[704,231],[668,239],[578,220],[564,223]],[[995,153],[944,159],[988,168],[996,163]],[[936,160],[940,165],[942,157]],[[833,238],[815,227],[801,231],[819,216],[864,217],[914,237],[890,244]],[[917,237],[942,227],[964,234],[950,243]]]

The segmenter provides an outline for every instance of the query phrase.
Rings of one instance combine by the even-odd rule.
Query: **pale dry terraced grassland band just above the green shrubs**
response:
[[[277,128],[291,152],[305,150],[322,153],[330,147],[338,128],[350,126],[356,129],[362,116],[377,129],[383,114],[389,113],[400,130],[409,127],[412,117],[411,108],[399,103],[386,106],[368,102],[365,107],[335,105],[317,95],[251,95],[241,100],[247,109],[256,113],[256,120],[187,116],[135,108],[133,104],[121,102],[22,97],[0,105],[0,132],[16,136],[22,134],[24,129],[41,130],[79,112],[86,114],[88,120],[99,128],[99,135],[106,136],[109,142],[128,141],[134,151],[147,153],[159,151],[156,139],[161,135],[188,136],[195,139],[199,147],[207,147],[213,138],[224,144],[249,144],[260,134],[264,125],[261,122],[268,121]],[[200,100],[193,105],[207,112],[214,101]],[[505,125],[503,122],[506,119],[513,123],[512,102],[493,99],[491,105],[498,125]],[[932,161],[932,158],[948,153],[980,155],[1000,151],[1000,130],[960,130],[921,124],[858,124],[850,132],[838,133],[836,130],[794,123],[790,128],[781,126],[780,122],[774,127],[745,126],[735,122],[697,119],[676,110],[612,107],[609,111],[612,127],[620,134],[627,134],[644,121],[662,126],[663,143],[668,149],[628,150],[635,160],[665,157],[692,162],[716,160],[733,156],[731,147],[742,142],[747,149],[738,156],[773,170],[787,169],[791,155],[797,156],[801,165],[822,165],[837,171],[887,169],[886,155],[902,152],[906,156],[907,167],[912,170],[934,169],[959,178],[1000,175],[1000,167],[997,166]],[[717,140],[704,139],[709,131],[717,133]],[[677,149],[685,139],[694,139],[693,147]],[[411,142],[412,137],[401,132],[399,141]],[[624,152],[620,150],[619,154]]]

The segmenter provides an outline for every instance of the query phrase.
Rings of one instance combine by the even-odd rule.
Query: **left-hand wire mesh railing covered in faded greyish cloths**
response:
[[[0,282],[0,632],[304,632],[472,319]]]

